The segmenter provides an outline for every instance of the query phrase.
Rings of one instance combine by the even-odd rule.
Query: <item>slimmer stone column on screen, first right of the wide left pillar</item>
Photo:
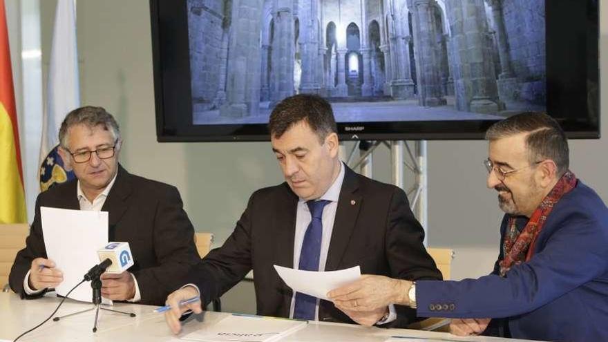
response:
[[[294,16],[291,1],[281,1],[281,3],[285,3],[286,6],[274,9],[272,104],[294,95]]]

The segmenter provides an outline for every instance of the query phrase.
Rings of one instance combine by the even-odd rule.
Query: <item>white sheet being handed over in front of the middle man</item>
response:
[[[329,300],[327,292],[352,283],[361,277],[359,266],[328,272],[301,271],[278,265],[274,265],[274,269],[294,292],[310,294],[310,296],[325,300]]]

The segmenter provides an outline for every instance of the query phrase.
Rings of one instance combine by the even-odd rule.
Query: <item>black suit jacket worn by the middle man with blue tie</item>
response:
[[[294,267],[297,202],[287,183],[251,195],[225,244],[213,249],[185,279],[199,287],[205,305],[253,269],[258,314],[289,316],[292,289],[272,265]],[[441,279],[422,245],[423,239],[424,231],[410,211],[403,190],[346,168],[326,271],[361,265],[362,274]],[[396,309],[398,318],[391,326],[403,326],[415,318],[414,310]],[[319,320],[353,323],[329,301],[321,301]]]

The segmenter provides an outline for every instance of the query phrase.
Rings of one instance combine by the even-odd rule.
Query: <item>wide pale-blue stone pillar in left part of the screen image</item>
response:
[[[260,107],[260,30],[263,0],[233,0],[226,77],[220,115],[256,115]]]

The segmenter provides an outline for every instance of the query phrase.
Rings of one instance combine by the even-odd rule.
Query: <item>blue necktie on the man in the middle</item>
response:
[[[306,271],[319,271],[319,256],[321,255],[321,238],[323,237],[323,208],[329,204],[329,200],[308,201],[310,209],[310,224],[304,234],[302,249],[300,251],[299,269]],[[294,319],[314,320],[316,297],[296,292],[296,304],[294,305]]]

